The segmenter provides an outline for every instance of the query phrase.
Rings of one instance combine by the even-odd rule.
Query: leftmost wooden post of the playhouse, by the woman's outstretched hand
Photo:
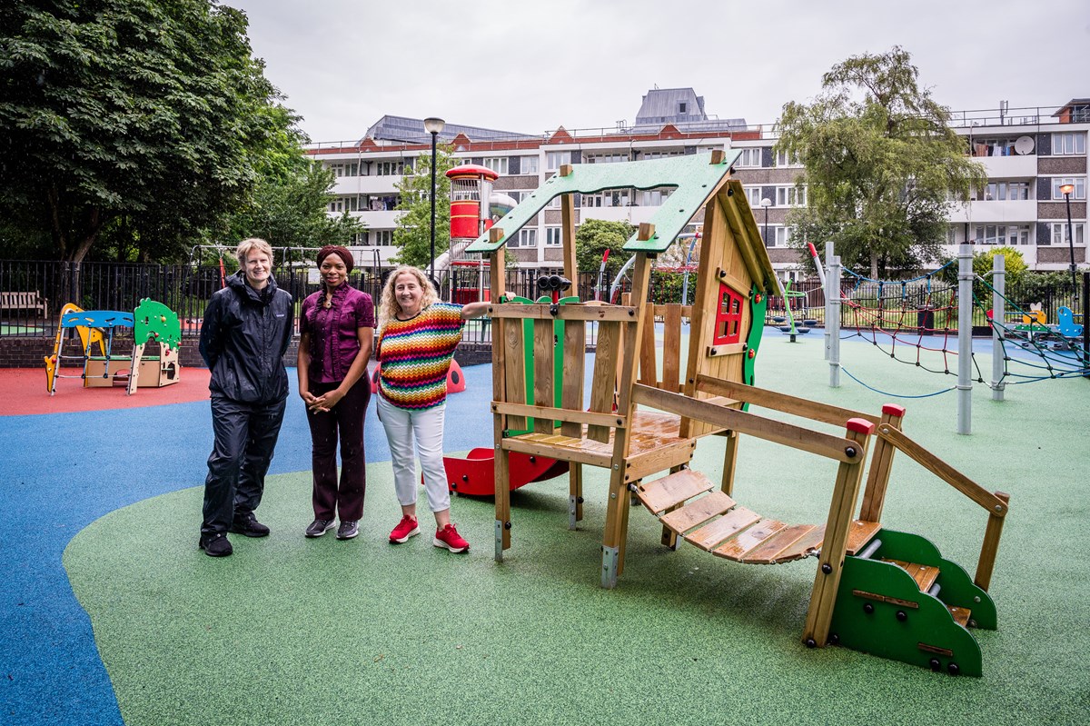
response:
[[[489,233],[495,231],[496,228],[488,230]],[[499,231],[499,235],[502,237],[502,230]],[[489,276],[489,300],[493,303],[499,301],[499,297],[504,293],[504,247],[491,253],[488,255],[488,265],[492,271]],[[521,325],[521,320],[508,322],[505,318],[498,317],[492,322],[492,398],[494,401],[504,403],[506,402],[505,394],[507,390],[507,364],[506,364],[506,340],[505,328],[507,325]],[[493,415],[493,456],[495,458],[494,462],[494,480],[493,484],[495,487],[496,495],[496,523],[495,523],[495,535],[496,535],[496,561],[502,561],[504,550],[511,546],[511,488],[510,488],[510,463],[508,461],[508,453],[502,448],[504,441],[504,428],[506,427],[504,415],[496,413]]]

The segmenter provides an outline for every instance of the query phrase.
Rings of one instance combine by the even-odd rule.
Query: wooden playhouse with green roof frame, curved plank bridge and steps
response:
[[[673,187],[669,201],[625,245],[634,255],[632,293],[626,304],[496,304],[491,308],[496,559],[502,560],[511,547],[511,451],[570,462],[570,529],[583,513],[582,467],[601,467],[609,472],[603,586],[614,588],[623,572],[634,496],[662,521],[667,546],[685,541],[744,564],[816,557],[802,632],[808,645],[836,642],[952,674],[979,675],[979,645],[964,626],[995,627],[994,605],[985,591],[1008,497],[983,489],[908,438],[900,431],[900,407],[887,406],[881,415],[871,415],[753,385],[766,300],[777,287],[742,186],[730,179],[738,155],[713,152],[710,156],[564,166],[468,247],[468,253],[488,255],[492,269],[502,269],[504,243],[559,196],[565,276],[576,279],[574,194]],[[652,304],[647,299],[652,259],[701,211],[703,239],[694,304]],[[494,275],[492,300],[500,299],[501,285],[500,276]],[[682,370],[681,323],[687,317],[691,324]],[[656,320],[662,320],[661,340],[655,339]],[[562,322],[561,334],[558,322]],[[588,324],[597,327],[589,409],[583,391]],[[531,337],[532,344],[525,344],[530,341],[524,337]],[[663,351],[662,370],[657,349]],[[526,361],[528,355],[532,361]],[[557,355],[562,356],[561,365],[556,365]],[[529,392],[528,365],[533,375]],[[749,412],[750,406],[833,424],[843,433],[760,416]],[[726,438],[718,486],[688,468],[697,444],[710,435]],[[736,503],[735,462],[747,435],[836,462],[823,522],[787,524]],[[868,476],[872,441],[876,443]],[[974,582],[922,537],[882,528],[896,451],[988,509]],[[857,515],[861,492],[862,509]]]

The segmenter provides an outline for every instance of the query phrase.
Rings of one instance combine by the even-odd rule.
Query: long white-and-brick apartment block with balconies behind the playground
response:
[[[1067,269],[1070,250],[1085,264],[1087,220],[1087,133],[1090,99],[1051,108],[959,111],[952,126],[966,137],[966,153],[984,165],[989,183],[970,199],[952,202],[949,251],[965,240],[980,245],[1015,245],[1031,268]],[[705,111],[692,88],[654,88],[643,97],[633,123],[613,128],[523,134],[447,124],[439,134],[455,157],[484,166],[499,178],[495,191],[514,201],[532,193],[565,164],[613,164],[712,149],[739,149],[735,177],[746,187],[750,207],[765,238],[770,257],[786,279],[800,259],[790,246],[787,213],[807,204],[803,169],[777,154],[772,124],[751,125],[741,118],[718,119]],[[330,214],[358,216],[367,232],[359,241],[389,264],[398,214],[396,182],[431,152],[423,121],[385,116],[364,137],[319,143],[308,153],[337,174]],[[1069,199],[1062,189],[1070,185]],[[669,189],[604,190],[576,199],[577,225],[585,219],[647,221],[669,197]],[[440,201],[445,203],[445,201]],[[1071,245],[1067,243],[1068,203]],[[700,219],[695,219],[695,231]],[[559,201],[523,228],[508,244],[525,267],[555,269],[560,264]],[[367,255],[370,259],[370,255]]]

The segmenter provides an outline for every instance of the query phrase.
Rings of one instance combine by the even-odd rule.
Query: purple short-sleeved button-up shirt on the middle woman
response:
[[[340,383],[360,352],[359,328],[375,327],[371,295],[348,282],[334,290],[332,306],[326,308],[322,291],[303,301],[300,330],[311,334],[311,383]]]

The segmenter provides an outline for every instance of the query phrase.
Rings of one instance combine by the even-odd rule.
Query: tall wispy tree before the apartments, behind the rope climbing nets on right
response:
[[[808,206],[791,210],[792,244],[836,244],[841,261],[916,269],[946,242],[950,197],[968,198],[986,174],[948,125],[949,111],[918,83],[899,47],[834,65],[810,104],[784,106],[776,150],[806,168]]]

